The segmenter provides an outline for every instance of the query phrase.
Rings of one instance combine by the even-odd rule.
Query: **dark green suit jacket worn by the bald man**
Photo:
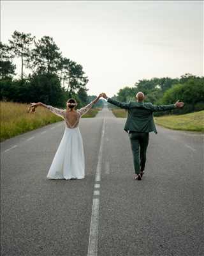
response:
[[[128,109],[128,118],[124,130],[135,132],[152,132],[157,133],[156,126],[154,124],[153,112],[165,111],[174,109],[175,105],[160,105],[156,106],[150,102],[134,102],[129,103],[119,102],[108,98],[108,102],[118,106],[119,108]]]

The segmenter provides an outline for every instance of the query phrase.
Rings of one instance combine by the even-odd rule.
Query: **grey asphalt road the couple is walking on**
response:
[[[2,256],[204,255],[203,136],[157,127],[133,180],[124,122],[108,109],[80,120],[84,180],[46,178],[64,122],[1,143]]]

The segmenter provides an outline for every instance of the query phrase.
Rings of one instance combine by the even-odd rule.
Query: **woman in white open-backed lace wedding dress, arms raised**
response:
[[[43,106],[52,111],[57,116],[61,116],[65,121],[64,134],[61,143],[57,148],[54,159],[48,171],[48,179],[84,179],[85,160],[82,135],[78,127],[80,117],[92,108],[93,104],[98,102],[102,93],[84,108],[75,109],[77,102],[75,99],[69,99],[66,102],[66,109],[54,108],[53,106],[43,104],[42,102],[31,103],[31,107]]]

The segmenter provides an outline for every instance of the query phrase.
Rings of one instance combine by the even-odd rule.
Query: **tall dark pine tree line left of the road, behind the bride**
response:
[[[52,37],[36,40],[31,33],[14,31],[8,44],[0,42],[0,49],[1,100],[64,107],[74,97],[81,107],[92,99],[87,95],[89,79],[82,65],[62,56]],[[18,78],[15,58],[21,63]]]

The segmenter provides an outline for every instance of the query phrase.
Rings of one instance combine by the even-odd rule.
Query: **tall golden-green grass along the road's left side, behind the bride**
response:
[[[35,113],[28,113],[30,104],[17,102],[0,102],[1,125],[0,141],[7,140],[27,131],[32,131],[63,119],[43,107],[36,108]],[[99,109],[90,109],[83,117],[94,117]]]

